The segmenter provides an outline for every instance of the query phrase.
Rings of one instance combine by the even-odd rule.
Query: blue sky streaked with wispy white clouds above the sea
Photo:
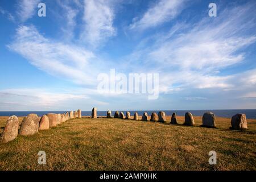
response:
[[[46,17],[38,16],[38,3]],[[217,17],[208,15],[209,3]],[[255,1],[0,1],[0,110],[256,109]],[[100,73],[159,73],[159,97]]]

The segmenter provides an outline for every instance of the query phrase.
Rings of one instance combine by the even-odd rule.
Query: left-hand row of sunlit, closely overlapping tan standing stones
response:
[[[37,114],[28,114],[24,117],[19,129],[19,119],[15,115],[9,117],[6,122],[5,129],[1,135],[0,143],[7,143],[14,140],[18,135],[34,135],[39,130],[48,130],[51,127],[56,127],[61,123],[73,118],[81,118],[81,110],[70,111],[69,113],[54,114],[49,113],[41,118]]]

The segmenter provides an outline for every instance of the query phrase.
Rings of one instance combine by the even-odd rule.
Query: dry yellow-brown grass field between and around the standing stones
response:
[[[229,130],[229,118],[217,129],[114,118],[71,119],[31,137],[0,144],[0,170],[255,170],[256,120],[249,130]],[[0,127],[7,117],[0,117]],[[22,118],[19,118],[20,122]],[[170,121],[170,117],[167,117]],[[3,128],[2,128],[3,130]],[[46,165],[38,152],[46,151]],[[208,163],[217,152],[217,165]]]

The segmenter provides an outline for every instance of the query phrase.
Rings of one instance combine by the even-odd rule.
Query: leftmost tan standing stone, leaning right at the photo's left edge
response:
[[[19,133],[19,119],[13,115],[7,119],[5,129],[3,130],[0,143],[7,143],[14,140]]]

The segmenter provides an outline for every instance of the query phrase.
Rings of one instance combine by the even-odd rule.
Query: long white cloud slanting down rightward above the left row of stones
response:
[[[94,64],[98,62],[91,63],[90,59],[94,58],[92,52],[46,39],[34,26],[20,26],[14,42],[8,47],[53,76],[64,77],[77,84],[96,84],[93,75],[96,74]]]

